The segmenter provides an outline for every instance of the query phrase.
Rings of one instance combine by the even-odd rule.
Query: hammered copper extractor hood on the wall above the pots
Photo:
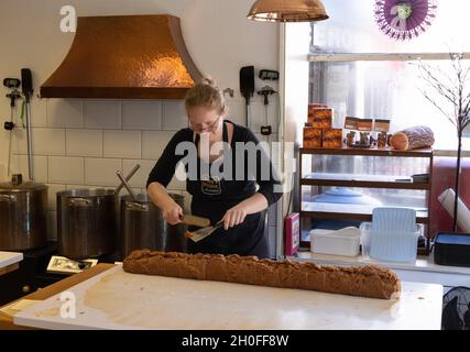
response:
[[[182,99],[200,78],[178,18],[86,16],[41,97]]]

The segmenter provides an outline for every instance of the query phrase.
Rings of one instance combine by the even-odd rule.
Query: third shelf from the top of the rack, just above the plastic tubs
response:
[[[303,201],[300,216],[323,220],[372,221],[372,211],[376,207],[378,206]],[[428,211],[423,208],[416,208],[415,210],[416,221],[418,223],[426,223],[428,220]]]

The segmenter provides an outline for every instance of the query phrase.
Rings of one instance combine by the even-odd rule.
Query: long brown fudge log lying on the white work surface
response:
[[[255,256],[133,251],[123,261],[128,273],[318,290],[397,299],[400,278],[375,265],[332,266]]]

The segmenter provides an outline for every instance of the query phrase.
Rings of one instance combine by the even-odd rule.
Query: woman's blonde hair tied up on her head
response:
[[[223,116],[229,113],[223,92],[210,77],[204,77],[187,91],[185,106],[186,111],[195,107],[207,107],[219,110]]]

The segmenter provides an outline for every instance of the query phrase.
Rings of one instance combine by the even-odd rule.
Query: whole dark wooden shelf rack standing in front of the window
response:
[[[325,172],[319,172],[319,169],[315,169],[321,163],[316,162],[319,157],[313,155],[328,155],[331,156],[379,156],[380,158],[371,160],[378,163],[384,163],[389,165],[389,163],[393,163],[393,160],[385,160],[385,157],[406,157],[406,158],[423,158],[424,162],[428,164],[426,166],[427,170],[422,170],[423,174],[416,174],[412,163],[407,163],[411,169],[408,170],[398,170],[394,168],[385,167],[385,175],[370,175],[370,174],[354,174],[349,170],[349,174],[345,173],[331,173],[332,169],[325,169]],[[308,160],[304,160],[304,156],[310,156]],[[429,224],[429,215],[428,209],[430,205],[430,190],[431,190],[431,179],[433,179],[433,158],[434,151],[431,148],[425,150],[415,150],[415,151],[397,151],[392,150],[390,147],[378,148],[360,148],[360,147],[339,147],[339,148],[299,148],[299,179],[298,179],[298,208],[300,208],[300,217],[303,219],[316,219],[316,220],[336,220],[336,221],[354,221],[354,222],[363,222],[363,221],[372,221],[373,209],[376,206],[373,201],[362,201],[367,205],[354,205],[354,204],[345,204],[341,201],[348,201],[340,199],[339,202],[313,202],[315,198],[311,198],[311,195],[308,198],[305,198],[303,191],[303,186],[326,186],[326,187],[348,187],[348,188],[371,188],[371,189],[395,189],[395,191],[390,191],[390,194],[396,194],[396,197],[400,197],[400,194],[396,191],[398,189],[408,190],[408,193],[413,193],[417,195],[419,198],[423,194],[426,195],[427,201],[420,208],[415,208],[416,210],[416,222],[423,224]],[[361,162],[362,160],[350,161],[351,163]],[[307,166],[310,162],[310,166]],[[403,161],[402,161],[403,162]],[[420,165],[419,161],[419,165]],[[305,164],[305,165],[304,165]],[[412,164],[412,165],[409,165]],[[304,172],[303,172],[304,168]],[[395,170],[402,175],[389,175],[387,170]],[[365,170],[362,170],[363,173]],[[407,174],[409,173],[409,174]],[[405,175],[403,175],[405,174]],[[406,175],[407,174],[407,175]],[[426,175],[427,177],[423,177]],[[315,193],[321,194],[321,189],[311,189]],[[417,194],[416,191],[419,191]],[[414,196],[413,196],[414,197]],[[338,197],[340,198],[340,197]],[[403,198],[403,197],[402,197]],[[408,196],[406,197],[408,198]],[[321,198],[317,198],[316,200],[320,200]],[[309,200],[309,201],[305,201]],[[326,201],[327,199],[321,199]],[[392,204],[400,204],[401,200],[391,201]],[[420,205],[417,204],[417,205]],[[397,206],[402,208],[403,206]],[[304,224],[306,224],[304,222]],[[419,253],[429,254],[429,227],[425,228],[425,234],[428,241],[426,241],[426,248],[419,249]],[[302,245],[308,248],[309,243],[302,242]]]

